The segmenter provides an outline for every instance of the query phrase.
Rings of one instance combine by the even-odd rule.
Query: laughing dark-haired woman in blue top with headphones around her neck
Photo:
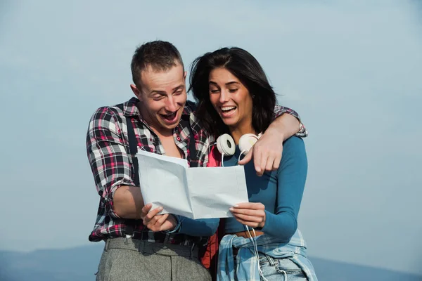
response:
[[[234,139],[234,155],[212,151],[224,166],[236,165],[244,154],[238,148],[241,136],[264,133],[274,119],[276,94],[257,60],[241,48],[221,48],[197,58],[191,90],[204,128]],[[260,177],[250,162],[245,176],[249,202],[231,208],[233,218],[224,221],[217,280],[316,280],[297,230],[307,176],[302,139],[293,136],[283,143],[277,171]]]

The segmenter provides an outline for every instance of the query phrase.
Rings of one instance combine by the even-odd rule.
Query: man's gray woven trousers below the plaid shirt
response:
[[[106,240],[97,281],[211,280],[198,249],[123,237]]]

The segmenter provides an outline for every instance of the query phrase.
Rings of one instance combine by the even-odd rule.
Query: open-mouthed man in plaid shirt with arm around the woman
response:
[[[160,209],[141,217],[144,203],[132,155],[137,146],[205,166],[215,140],[196,122],[194,103],[186,101],[186,72],[172,44],[152,41],[137,48],[132,79],[136,98],[98,108],[87,133],[88,158],[101,196],[89,240],[106,241],[97,280],[210,280],[198,248],[215,233],[218,220],[183,218],[180,223],[177,216],[155,216]],[[277,115],[283,112],[298,117],[286,108]],[[280,140],[299,128],[306,135],[295,117],[277,118],[243,162],[254,155],[258,174],[273,169],[274,159],[281,159]]]

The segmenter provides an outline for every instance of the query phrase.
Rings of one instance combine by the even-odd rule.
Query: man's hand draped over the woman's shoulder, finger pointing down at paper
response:
[[[266,171],[279,169],[281,155],[283,154],[283,141],[284,136],[281,132],[278,130],[272,131],[268,128],[238,164],[244,165],[250,162],[253,157],[257,176],[262,176]]]

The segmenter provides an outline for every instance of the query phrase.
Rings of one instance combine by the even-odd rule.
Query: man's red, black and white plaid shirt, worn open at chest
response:
[[[165,155],[160,138],[153,132],[150,126],[141,117],[138,107],[139,100],[132,98],[119,107],[100,107],[89,122],[87,133],[87,154],[96,189],[100,195],[98,214],[94,230],[89,235],[90,241],[101,241],[108,237],[124,237],[126,228],[125,219],[120,218],[113,208],[113,195],[121,185],[134,184],[134,168],[132,158],[129,155],[129,141],[127,138],[127,119],[132,119],[136,140],[139,148],[148,152]],[[194,115],[195,103],[187,101],[182,119],[189,120],[191,129],[196,141],[196,156],[198,163],[195,166],[206,166],[208,153],[215,143],[215,138],[208,136],[198,124]],[[287,107],[277,106],[274,110],[276,116],[289,113],[295,117],[298,114]],[[305,127],[300,125],[300,132],[297,136],[307,136]],[[176,145],[181,149],[185,159],[191,159],[189,148],[190,134],[187,126],[180,123],[173,130],[173,138]],[[198,242],[200,237],[189,237],[183,234],[169,234],[165,232],[153,233],[143,226],[136,224],[134,228],[134,239],[148,240],[148,242],[170,242],[172,244],[191,245]]]

